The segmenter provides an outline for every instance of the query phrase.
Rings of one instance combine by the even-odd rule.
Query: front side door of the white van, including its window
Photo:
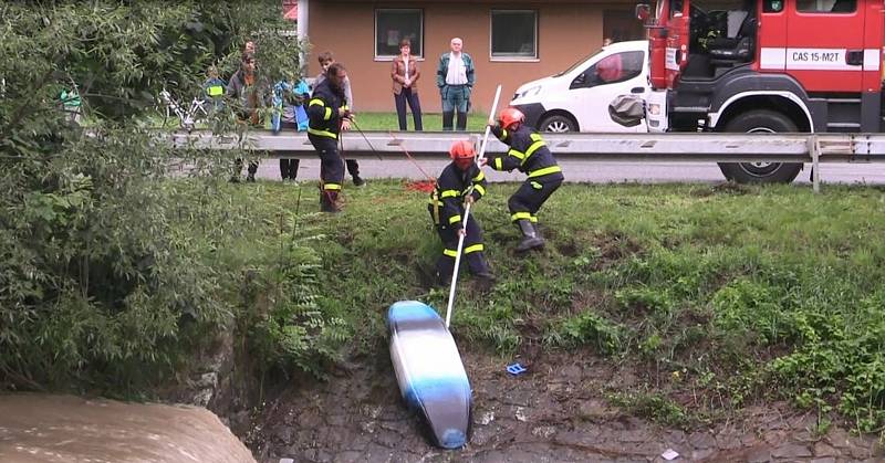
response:
[[[643,97],[648,88],[645,52],[627,51],[602,57],[572,80],[570,99],[581,131],[646,131],[645,120],[624,127],[608,115],[608,104],[620,95]]]

